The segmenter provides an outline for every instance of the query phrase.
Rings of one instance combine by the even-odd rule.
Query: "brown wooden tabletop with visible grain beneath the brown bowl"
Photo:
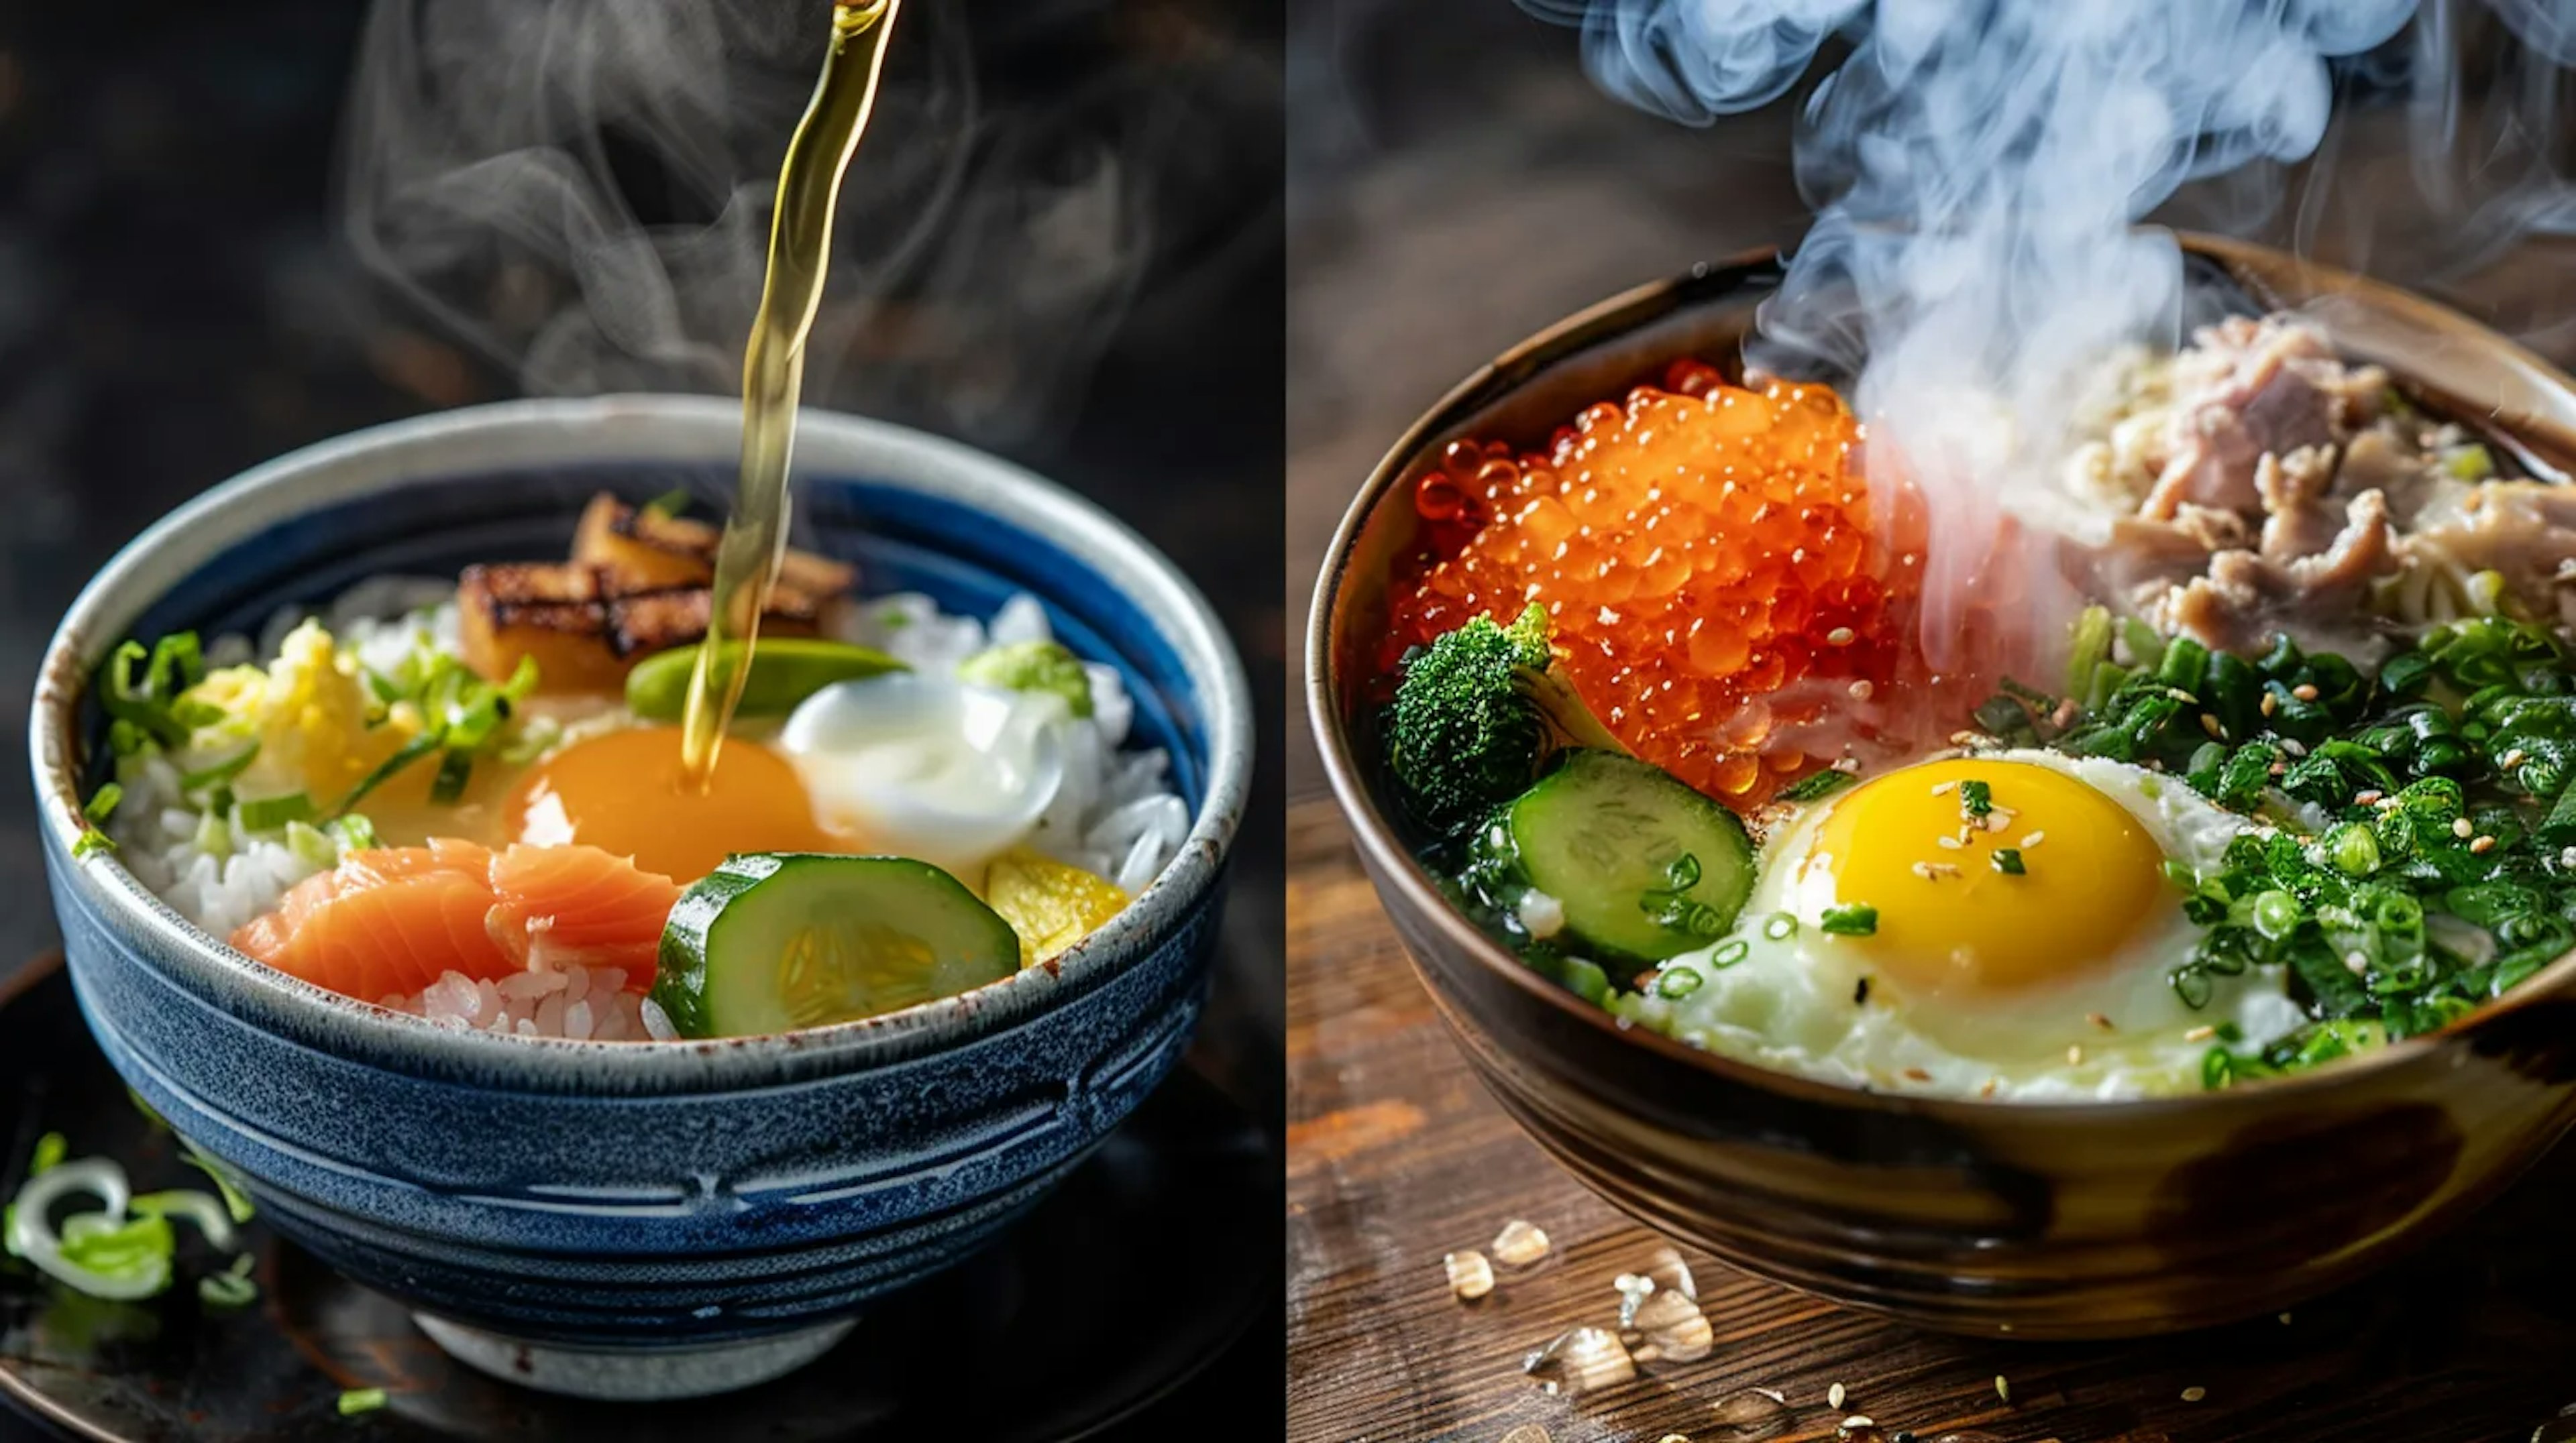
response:
[[[1471,1080],[1332,801],[1288,822],[1288,1433],[1298,1443],[1837,1438],[1844,1415],[1932,1443],[2522,1443],[2576,1438],[2576,1152],[2416,1257],[2290,1314],[2154,1343],[1978,1343],[1847,1312],[1685,1252],[1718,1348],[1551,1397],[1522,1355],[1610,1327],[1613,1278],[1664,1239],[1556,1170]],[[1440,1257],[1507,1219],[1553,1239],[1476,1304]],[[2009,1379],[2009,1404],[1994,1379]],[[1844,1384],[1844,1410],[1826,1389]],[[1775,1430],[1718,1404],[1777,1389]],[[2184,1389],[2205,1389],[2184,1402]],[[1512,1438],[1535,1443],[1535,1435]]]

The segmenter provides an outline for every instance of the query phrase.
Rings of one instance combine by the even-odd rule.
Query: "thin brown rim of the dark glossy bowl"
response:
[[[2367,276],[2354,276],[2331,265],[2318,265],[2306,258],[2295,258],[2285,250],[2215,237],[2200,232],[2172,232],[2184,253],[2200,253],[2231,265],[2257,268],[2257,271],[2282,271],[2295,268],[2303,278],[2316,283],[2316,296],[2344,294],[2360,296],[2372,307],[2406,314],[2419,322],[2437,325],[2439,330],[2463,332],[2488,345],[2496,356],[2512,361],[2517,368],[2527,371],[2535,381],[2555,387],[2561,392],[2576,394],[2576,379],[2566,376],[2532,350],[2512,343],[2509,338],[2473,322],[2470,317],[2429,301],[2424,296],[2385,286]],[[1412,469],[1414,459],[1422,454],[1425,443],[1435,435],[1463,423],[1476,410],[1502,399],[1535,374],[1548,366],[1574,358],[1600,340],[1620,338],[1641,330],[1654,320],[1664,320],[1682,309],[1690,309],[1705,296],[1734,294],[1741,289],[1744,278],[1754,271],[1777,268],[1783,260],[1780,247],[1752,247],[1726,255],[1721,260],[1695,263],[1680,276],[1667,276],[1662,281],[1646,281],[1618,291],[1602,301],[1595,301],[1564,320],[1556,320],[1528,338],[1510,345],[1494,361],[1479,366],[1455,387],[1448,389],[1430,410],[1414,417],[1412,425],[1386,448],[1378,464],[1368,472],[1368,479],[1352,495],[1350,508],[1342,513],[1340,526],[1334,526],[1332,544],[1324,551],[1324,567],[1316,575],[1314,598],[1306,611],[1306,722],[1314,732],[1316,750],[1321,752],[1324,778],[1332,783],[1332,796],[1342,809],[1342,819],[1350,825],[1352,843],[1358,845],[1368,871],[1378,884],[1381,894],[1394,892],[1394,897],[1381,897],[1388,912],[1396,899],[1409,907],[1417,917],[1425,917],[1430,928],[1440,933],[1440,941],[1453,948],[1455,956],[1468,959],[1468,966],[1486,971],[1502,984],[1520,989],[1525,997],[1540,1008],[1556,1010],[1561,1018],[1574,1020],[1602,1033],[1615,1033],[1625,1046],[1638,1046],[1649,1054],[1662,1054],[1664,1059],[1708,1072],[1723,1082],[1757,1087],[1765,1093],[1777,1093],[1803,1103],[1819,1105],[1844,1105],[1865,1108],[1888,1116],[1932,1118],[1942,1123],[1965,1123],[1971,1118],[1994,1118],[1996,1108],[2009,1108],[2017,1118],[2030,1118],[2040,1126],[2084,1126],[2099,1121],[2146,1121],[2146,1118],[2172,1118],[2184,1111],[2205,1113],[2246,1113],[2249,1108],[2269,1108],[2272,1098],[2287,1098],[2298,1093],[2321,1093],[2344,1087],[2360,1077],[2403,1067],[2409,1062],[2424,1059],[2447,1044],[2455,1044],[2463,1033],[2473,1033],[2488,1026],[2494,1018],[2514,1013],[2537,1002],[2545,995],[2563,992],[2576,984],[2576,951],[2548,964],[2537,974],[2527,977],[2519,987],[2478,1008],[2476,1013],[2439,1028],[2432,1033],[2416,1033],[2380,1049],[2342,1059],[2308,1072],[2295,1072],[2290,1077],[2264,1077],[2249,1085],[2223,1087],[2215,1093],[2172,1093],[2148,1098],[2102,1098],[2102,1100],[2017,1100],[2017,1098],[1953,1098],[1953,1095],[1911,1095],[1911,1093],[1878,1093],[1850,1082],[1829,1082],[1821,1077],[1806,1077],[1798,1072],[1783,1072],[1762,1067],[1757,1062],[1744,1062],[1721,1051],[1695,1049],[1651,1028],[1620,1026],[1605,1008],[1595,1008],[1582,997],[1566,992],[1564,987],[1543,979],[1538,971],[1525,966],[1510,948],[1489,938],[1481,928],[1466,920],[1463,912],[1450,907],[1422,863],[1404,848],[1396,830],[1378,812],[1363,781],[1363,768],[1352,755],[1347,729],[1342,724],[1340,706],[1334,703],[1337,675],[1334,675],[1334,603],[1342,595],[1342,582],[1350,575],[1352,557],[1360,544],[1360,531],[1368,518],[1376,515],[1378,505],[1396,492],[1404,474]],[[1414,956],[1417,971],[1437,971],[1419,956]],[[1440,987],[1430,987],[1432,997],[1440,1000],[1443,1015],[1453,1026],[1463,1026],[1455,1005],[1440,997]]]

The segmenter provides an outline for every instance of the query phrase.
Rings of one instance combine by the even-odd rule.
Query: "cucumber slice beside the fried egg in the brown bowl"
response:
[[[1734,812],[1620,752],[1577,750],[1492,827],[1584,951],[1664,961],[1734,925],[1754,845]]]

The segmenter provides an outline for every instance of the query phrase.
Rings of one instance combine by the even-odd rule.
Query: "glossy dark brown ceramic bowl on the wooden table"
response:
[[[2195,271],[2308,304],[2347,353],[2576,459],[2576,384],[2401,291],[2233,242]],[[1623,1031],[1450,910],[1368,740],[1412,482],[1461,435],[1540,443],[1677,356],[1731,366],[1772,255],[1569,317],[1430,410],[1360,490],[1316,588],[1309,709],[1360,861],[1468,1062],[1589,1188],[1728,1263],[1953,1332],[2128,1337],[2352,1281],[2491,1198],[2576,1121],[2576,959],[2445,1033],[2280,1082],[2136,1103],[1893,1098]]]

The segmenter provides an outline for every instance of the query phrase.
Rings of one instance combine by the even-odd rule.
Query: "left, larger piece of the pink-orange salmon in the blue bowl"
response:
[[[489,930],[492,884],[425,848],[353,853],[304,879],[286,902],[232,933],[232,946],[317,987],[366,1002],[412,995],[446,971],[518,971]]]

